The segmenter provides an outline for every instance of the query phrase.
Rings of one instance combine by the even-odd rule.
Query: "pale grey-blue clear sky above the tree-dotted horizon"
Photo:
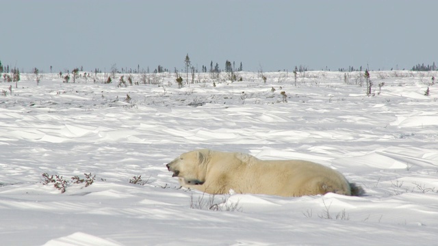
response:
[[[22,72],[153,71],[211,61],[263,72],[438,61],[438,1],[0,0],[0,61]]]

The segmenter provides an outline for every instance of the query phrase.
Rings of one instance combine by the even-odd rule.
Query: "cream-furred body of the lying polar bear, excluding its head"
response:
[[[208,167],[205,186],[209,193],[233,189],[237,193],[281,196],[351,195],[342,174],[311,161],[263,161],[249,154],[213,152]]]

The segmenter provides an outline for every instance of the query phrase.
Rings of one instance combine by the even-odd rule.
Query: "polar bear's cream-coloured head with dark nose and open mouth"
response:
[[[207,173],[208,150],[194,150],[181,154],[166,165],[172,177],[178,177],[181,184],[203,184]]]

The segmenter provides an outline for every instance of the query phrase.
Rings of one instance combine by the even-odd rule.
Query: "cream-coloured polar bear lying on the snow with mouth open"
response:
[[[250,154],[194,150],[166,165],[182,187],[209,194],[252,193],[297,197],[337,193],[362,195],[339,172],[311,161],[262,161]]]

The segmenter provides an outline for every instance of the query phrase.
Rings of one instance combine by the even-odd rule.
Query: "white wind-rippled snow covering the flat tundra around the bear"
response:
[[[175,74],[145,74],[159,83],[146,85],[133,74],[140,85],[127,87],[121,74],[2,78],[0,244],[436,245],[438,87],[424,91],[437,72],[370,74],[374,96],[359,72],[198,74],[181,89]],[[315,161],[367,194],[179,189],[165,164],[196,148]],[[42,174],[70,183],[62,193]],[[84,174],[94,182],[72,184]],[[138,176],[146,184],[129,182]]]

